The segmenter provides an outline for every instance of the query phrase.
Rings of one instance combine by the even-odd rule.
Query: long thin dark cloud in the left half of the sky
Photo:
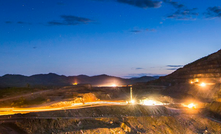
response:
[[[83,18],[83,17],[77,17],[72,15],[61,15],[60,16],[62,21],[49,21],[49,25],[79,25],[79,24],[87,24],[90,22],[93,22],[91,19]]]

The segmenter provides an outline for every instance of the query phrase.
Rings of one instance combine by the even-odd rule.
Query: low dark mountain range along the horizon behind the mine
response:
[[[0,87],[27,87],[27,86],[68,86],[73,83],[91,85],[129,85],[137,82],[155,80],[156,77],[144,76],[140,78],[123,79],[120,77],[97,75],[97,76],[64,76],[54,73],[37,74],[32,76],[4,75],[0,77]]]

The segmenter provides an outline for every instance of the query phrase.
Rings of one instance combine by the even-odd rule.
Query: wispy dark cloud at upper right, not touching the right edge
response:
[[[172,5],[176,11],[167,16],[169,19],[177,19],[177,20],[195,20],[199,15],[196,12],[197,8],[187,8],[183,4],[179,4],[178,2],[173,2],[172,0],[164,0],[165,3]]]

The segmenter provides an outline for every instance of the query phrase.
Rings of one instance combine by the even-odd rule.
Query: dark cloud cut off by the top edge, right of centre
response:
[[[153,0],[117,0],[119,3],[129,4],[139,8],[159,8],[161,7],[161,1]]]

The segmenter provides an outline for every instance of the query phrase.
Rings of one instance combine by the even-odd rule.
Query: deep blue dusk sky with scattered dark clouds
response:
[[[0,75],[165,75],[221,48],[220,0],[0,0]]]

